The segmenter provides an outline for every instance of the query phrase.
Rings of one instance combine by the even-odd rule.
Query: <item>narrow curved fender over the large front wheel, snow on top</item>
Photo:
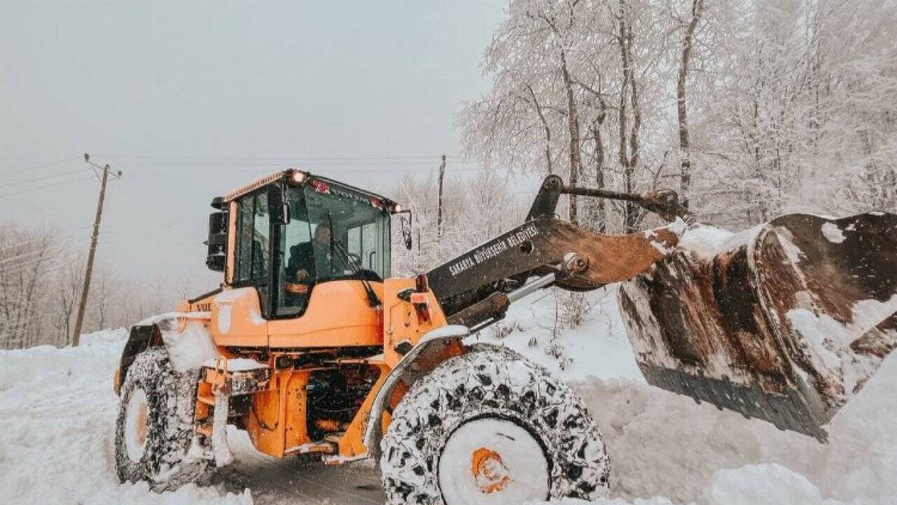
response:
[[[389,371],[389,375],[374,397],[374,403],[370,406],[368,426],[364,431],[364,447],[368,448],[369,457],[379,458],[380,439],[383,438],[383,412],[387,410],[389,397],[396,389],[396,385],[405,383],[410,387],[418,377],[429,371],[414,367],[422,361],[427,351],[440,350],[450,341],[458,341],[468,334],[470,330],[460,324],[448,324],[426,332],[417,345],[399,360],[396,368]]]

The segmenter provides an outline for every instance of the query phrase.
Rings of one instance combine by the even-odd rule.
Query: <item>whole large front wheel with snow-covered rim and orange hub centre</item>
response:
[[[476,344],[414,383],[380,447],[388,504],[590,500],[608,487],[579,397],[501,346]]]

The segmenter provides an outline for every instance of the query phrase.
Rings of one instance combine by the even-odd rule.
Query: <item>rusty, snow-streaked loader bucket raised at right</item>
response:
[[[692,226],[620,302],[650,384],[824,441],[897,346],[897,215]]]

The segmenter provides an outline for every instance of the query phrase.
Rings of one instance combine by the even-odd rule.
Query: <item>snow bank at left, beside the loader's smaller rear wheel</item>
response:
[[[0,351],[0,503],[246,504],[249,492],[120,484],[112,371],[125,331],[84,335],[77,349]]]

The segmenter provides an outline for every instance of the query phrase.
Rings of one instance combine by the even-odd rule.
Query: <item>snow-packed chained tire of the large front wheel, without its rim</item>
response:
[[[458,428],[483,418],[512,421],[542,446],[549,496],[536,498],[606,494],[605,445],[570,386],[513,350],[478,343],[415,382],[396,406],[380,444],[387,503],[442,505],[442,451]]]

